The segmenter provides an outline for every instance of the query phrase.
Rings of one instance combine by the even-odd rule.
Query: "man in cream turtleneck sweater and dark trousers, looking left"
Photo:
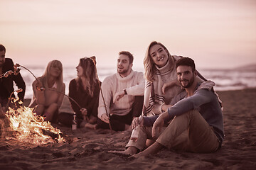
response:
[[[132,62],[130,52],[119,52],[117,73],[102,82],[97,128],[109,128],[110,123],[112,130],[127,130],[142,114],[145,81],[142,72],[132,70]]]

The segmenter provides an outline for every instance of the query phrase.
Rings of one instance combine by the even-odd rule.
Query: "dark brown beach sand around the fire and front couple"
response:
[[[124,149],[130,131],[111,134],[110,130],[70,130],[57,125],[68,142],[31,147],[1,138],[0,169],[255,169],[256,89],[218,94],[224,106],[225,140],[215,153],[162,149],[155,155],[129,159],[107,151]]]

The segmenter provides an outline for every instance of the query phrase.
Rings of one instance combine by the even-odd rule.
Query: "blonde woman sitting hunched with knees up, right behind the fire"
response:
[[[57,122],[58,108],[63,101],[63,65],[58,60],[48,63],[42,77],[33,81],[33,98],[29,107],[35,107],[37,115],[44,115],[46,121]],[[40,90],[44,89],[43,91]]]

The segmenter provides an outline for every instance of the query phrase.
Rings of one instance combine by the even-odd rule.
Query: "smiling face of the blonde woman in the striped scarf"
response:
[[[161,45],[153,45],[149,49],[149,54],[154,61],[154,64],[160,68],[164,67],[168,61],[168,54]]]

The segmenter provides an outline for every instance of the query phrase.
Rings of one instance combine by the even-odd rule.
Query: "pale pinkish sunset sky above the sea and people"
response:
[[[23,66],[95,55],[98,67],[116,67],[127,50],[143,68],[153,40],[198,68],[256,63],[256,1],[0,0],[0,43]]]

